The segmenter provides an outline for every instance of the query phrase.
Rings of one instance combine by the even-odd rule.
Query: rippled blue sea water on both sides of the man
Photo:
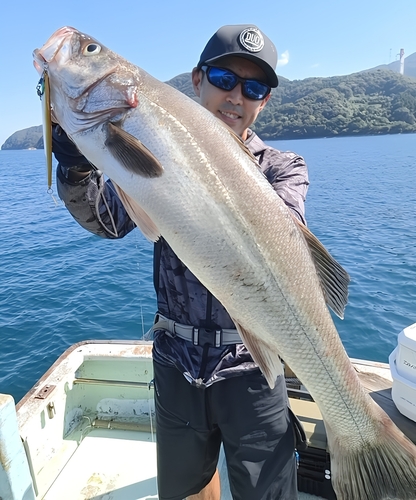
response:
[[[416,322],[416,135],[270,144],[304,156],[309,228],[351,276],[334,318],[348,354],[387,362]],[[0,393],[17,402],[70,345],[142,338],[153,247],[78,226],[47,194],[43,151],[0,151],[0,176]]]

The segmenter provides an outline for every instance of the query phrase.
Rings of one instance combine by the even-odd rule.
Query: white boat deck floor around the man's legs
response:
[[[86,432],[86,429],[83,430]],[[79,433],[77,433],[77,437]],[[156,500],[156,444],[151,432],[87,430],[43,500]],[[125,458],[128,457],[128,460]],[[120,461],[123,466],[120,467]],[[231,500],[224,456],[221,500]],[[299,500],[320,497],[299,493]]]

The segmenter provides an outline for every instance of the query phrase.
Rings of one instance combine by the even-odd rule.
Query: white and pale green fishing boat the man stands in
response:
[[[0,498],[157,499],[151,351],[151,341],[77,343],[17,405],[1,394]],[[351,361],[373,399],[416,442],[415,422],[392,400],[389,364]],[[299,499],[335,500],[321,413],[289,367],[286,385],[309,440],[298,450]],[[221,500],[231,500],[223,453],[219,471]]]

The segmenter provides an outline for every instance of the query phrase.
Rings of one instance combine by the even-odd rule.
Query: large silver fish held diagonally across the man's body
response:
[[[221,301],[270,386],[282,357],[318,404],[339,500],[416,498],[416,448],[366,394],[327,304],[348,276],[292,217],[234,134],[101,43],[62,28],[34,52],[54,119]],[[243,418],[243,417],[242,417]]]

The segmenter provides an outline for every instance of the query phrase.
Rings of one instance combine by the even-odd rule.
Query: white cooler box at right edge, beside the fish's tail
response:
[[[416,323],[399,333],[389,364],[394,404],[400,413],[416,422]]]

